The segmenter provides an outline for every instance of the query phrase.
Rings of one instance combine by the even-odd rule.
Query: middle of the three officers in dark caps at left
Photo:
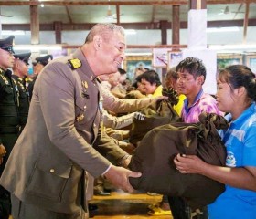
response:
[[[19,91],[19,119],[21,130],[24,129],[27,123],[27,115],[29,110],[29,94],[26,87],[26,77],[28,72],[28,60],[31,53],[15,54],[15,64],[13,67],[13,76],[16,80],[16,85]]]

